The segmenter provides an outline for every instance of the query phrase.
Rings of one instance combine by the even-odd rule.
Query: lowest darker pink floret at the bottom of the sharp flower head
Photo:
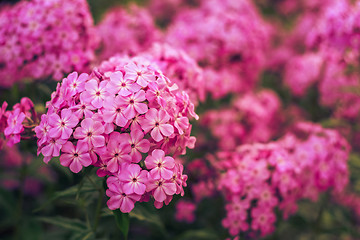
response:
[[[110,197],[107,201],[109,209],[119,209],[123,213],[131,212],[135,206],[135,202],[139,201],[141,196],[137,194],[126,194],[123,191],[123,185],[117,182],[108,184],[109,189],[106,195]]]

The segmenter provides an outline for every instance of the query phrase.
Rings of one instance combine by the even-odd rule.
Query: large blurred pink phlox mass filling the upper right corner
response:
[[[304,11],[290,36],[283,34],[270,64],[273,70],[278,65],[275,71],[282,72],[294,96],[304,96],[315,85],[320,105],[352,122],[360,110],[359,7],[347,0],[326,1],[318,11]]]

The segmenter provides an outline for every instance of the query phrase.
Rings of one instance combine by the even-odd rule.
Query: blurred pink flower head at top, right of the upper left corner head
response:
[[[101,37],[101,59],[114,54],[138,54],[151,47],[161,36],[152,13],[135,4],[127,9],[111,9],[96,29]]]

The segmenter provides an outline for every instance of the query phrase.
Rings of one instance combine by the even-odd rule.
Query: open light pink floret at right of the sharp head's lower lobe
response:
[[[151,169],[150,175],[154,179],[164,178],[169,180],[174,174],[175,160],[172,157],[166,156],[163,150],[155,149],[151,156],[145,159],[145,165]]]

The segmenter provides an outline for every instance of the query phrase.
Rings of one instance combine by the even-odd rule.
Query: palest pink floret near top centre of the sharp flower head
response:
[[[135,83],[134,79],[123,77],[120,71],[110,74],[110,81],[106,86],[106,90],[111,94],[119,94],[120,96],[128,96],[131,93],[138,92],[141,86]]]

